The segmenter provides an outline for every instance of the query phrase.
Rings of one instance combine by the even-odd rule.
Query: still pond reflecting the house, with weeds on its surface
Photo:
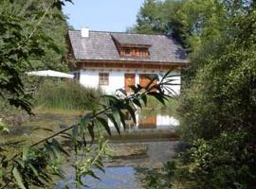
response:
[[[10,131],[14,138],[22,136],[35,142],[44,138],[49,132],[46,130],[32,131],[32,129],[40,127],[58,131],[78,119],[79,113],[37,112],[36,116],[29,121]],[[95,180],[89,176],[83,178],[88,185],[87,188],[143,188],[141,177],[145,170],[159,168],[162,163],[172,160],[178,146],[178,136],[174,129],[179,123],[174,116],[155,112],[139,112],[137,120],[137,124],[134,124],[127,117],[127,129],[122,130],[121,135],[115,132],[114,127],[110,125],[113,135],[109,139],[114,154],[104,164],[105,173],[96,170],[96,175],[101,180]],[[66,166],[64,170],[67,173],[66,180],[57,181],[55,188],[64,188],[66,181],[74,180],[73,169]]]

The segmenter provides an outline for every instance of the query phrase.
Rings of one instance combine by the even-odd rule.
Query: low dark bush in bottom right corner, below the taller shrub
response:
[[[247,132],[222,132],[212,140],[198,139],[183,156],[195,188],[253,188],[255,148]],[[247,144],[245,146],[245,144]],[[242,187],[243,186],[243,187]],[[194,187],[192,187],[194,188]]]

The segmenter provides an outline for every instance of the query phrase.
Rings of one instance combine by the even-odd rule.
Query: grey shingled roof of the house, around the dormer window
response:
[[[123,58],[112,36],[119,43],[146,44],[150,58]],[[90,31],[88,38],[82,38],[80,30],[69,30],[68,37],[77,60],[141,60],[155,62],[188,62],[185,50],[174,38],[165,35],[128,34],[118,32]]]

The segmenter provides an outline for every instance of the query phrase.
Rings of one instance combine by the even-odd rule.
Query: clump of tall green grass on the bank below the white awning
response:
[[[45,80],[35,94],[34,106],[45,109],[84,110],[98,107],[100,90],[85,88],[74,80]]]

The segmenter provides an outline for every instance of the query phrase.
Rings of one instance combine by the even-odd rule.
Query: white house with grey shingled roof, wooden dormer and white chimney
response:
[[[149,76],[161,77],[172,69],[180,75],[188,63],[186,53],[174,38],[165,35],[129,34],[124,32],[69,30],[71,73],[85,87],[101,88],[107,94],[117,89],[131,92],[130,85],[147,85]],[[174,77],[180,83],[180,76]],[[180,86],[173,90],[180,92]]]

